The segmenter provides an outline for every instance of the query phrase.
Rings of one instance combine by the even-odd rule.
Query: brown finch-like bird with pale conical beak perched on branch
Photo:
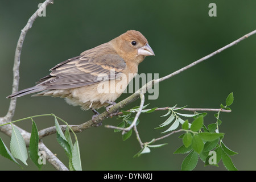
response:
[[[57,64],[36,86],[7,98],[40,92],[34,96],[64,97],[68,104],[92,109],[97,114],[94,109],[113,104],[138,72],[139,63],[152,55],[155,54],[141,32],[129,30]]]

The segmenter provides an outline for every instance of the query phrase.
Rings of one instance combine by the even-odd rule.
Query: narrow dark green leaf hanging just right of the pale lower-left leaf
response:
[[[31,118],[32,119],[32,118]],[[38,163],[39,155],[38,155],[38,143],[39,143],[39,135],[38,129],[36,127],[36,123],[32,119],[32,131],[30,137],[30,146],[28,147],[28,154],[32,162],[41,170],[43,164]]]

